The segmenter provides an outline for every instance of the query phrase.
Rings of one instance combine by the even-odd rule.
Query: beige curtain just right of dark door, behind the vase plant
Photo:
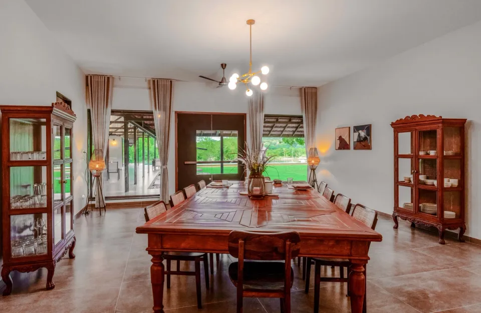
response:
[[[254,91],[249,99],[249,124],[251,130],[252,150],[261,153],[262,131],[264,128],[264,96],[260,91]]]

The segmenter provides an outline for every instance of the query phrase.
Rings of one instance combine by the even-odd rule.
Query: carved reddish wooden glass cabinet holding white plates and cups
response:
[[[397,218],[444,231],[464,223],[464,124],[466,119],[407,116],[394,129],[394,228]]]

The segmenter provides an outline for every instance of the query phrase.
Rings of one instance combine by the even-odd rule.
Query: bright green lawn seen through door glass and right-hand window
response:
[[[208,165],[199,166],[197,165],[198,174],[220,174],[220,165]],[[224,165],[224,173],[229,171],[235,171],[237,165]],[[269,176],[271,179],[282,179],[287,180],[288,177],[292,177],[294,180],[307,180],[307,164],[271,164],[264,172],[264,176]]]

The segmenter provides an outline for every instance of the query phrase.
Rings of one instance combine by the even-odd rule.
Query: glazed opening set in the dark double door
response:
[[[237,131],[196,131],[197,175],[236,174]]]

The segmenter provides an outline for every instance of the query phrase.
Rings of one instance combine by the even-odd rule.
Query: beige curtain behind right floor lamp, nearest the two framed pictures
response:
[[[316,147],[316,120],[317,120],[317,88],[301,88],[301,110],[304,124],[304,140],[306,141],[306,155]],[[312,183],[312,177],[309,183]]]

